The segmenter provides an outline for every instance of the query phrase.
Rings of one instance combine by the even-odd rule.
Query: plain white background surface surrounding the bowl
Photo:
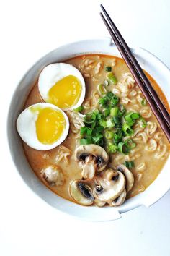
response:
[[[6,113],[24,72],[48,51],[82,38],[107,36],[100,1],[4,1],[1,26],[0,255],[170,255],[170,192],[151,208],[118,221],[91,223],[58,213],[36,197],[17,174],[6,142]],[[130,46],[141,46],[170,67],[170,1],[102,4]],[[169,181],[170,182],[170,181]]]

